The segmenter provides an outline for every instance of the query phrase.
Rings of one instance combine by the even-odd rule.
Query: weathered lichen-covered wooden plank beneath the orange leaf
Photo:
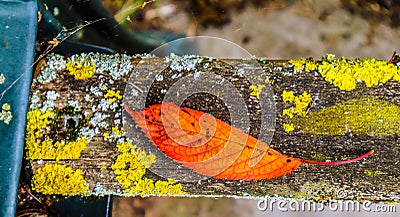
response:
[[[372,60],[360,63],[366,66],[377,61]],[[381,69],[372,71],[372,75],[357,68],[348,70],[348,74],[336,71],[336,75],[329,75],[334,72],[323,71],[328,63],[340,61],[345,60],[329,55],[322,61],[277,61],[51,54],[38,64],[31,88],[26,158],[32,169],[32,188],[38,193],[63,196],[169,195],[396,203],[400,197],[397,66],[393,65],[394,71],[392,66],[382,69],[383,75],[377,73]],[[387,65],[378,63],[372,67]],[[257,67],[265,78],[256,84],[243,78],[235,85],[244,87],[248,104],[263,97],[260,92],[265,85],[272,86],[277,112],[272,148],[286,155],[322,161],[349,159],[371,149],[375,154],[348,165],[304,164],[272,180],[209,178],[180,183],[151,172],[151,165],[163,165],[165,158],[141,150],[137,143],[147,141],[144,136],[126,139],[125,130],[135,130],[124,129],[123,125],[124,91],[132,73],[136,73],[135,81],[143,80],[145,84],[149,80],[145,73],[165,68],[147,97],[148,104],[155,104],[162,100],[162,89],[180,76],[202,71],[229,80],[238,76],[240,68],[251,71]],[[140,82],[131,85],[136,89],[130,94],[138,94]],[[226,109],[215,109],[222,105],[218,100],[204,103],[201,97],[194,97],[185,103],[194,109],[209,108],[213,115],[229,120]],[[258,136],[260,117],[251,118],[250,134]]]

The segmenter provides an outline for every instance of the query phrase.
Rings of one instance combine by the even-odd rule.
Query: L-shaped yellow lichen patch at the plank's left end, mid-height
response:
[[[76,159],[86,148],[89,141],[84,137],[74,141],[55,141],[46,135],[54,117],[54,112],[50,110],[44,113],[40,109],[28,112],[25,139],[27,159]]]

